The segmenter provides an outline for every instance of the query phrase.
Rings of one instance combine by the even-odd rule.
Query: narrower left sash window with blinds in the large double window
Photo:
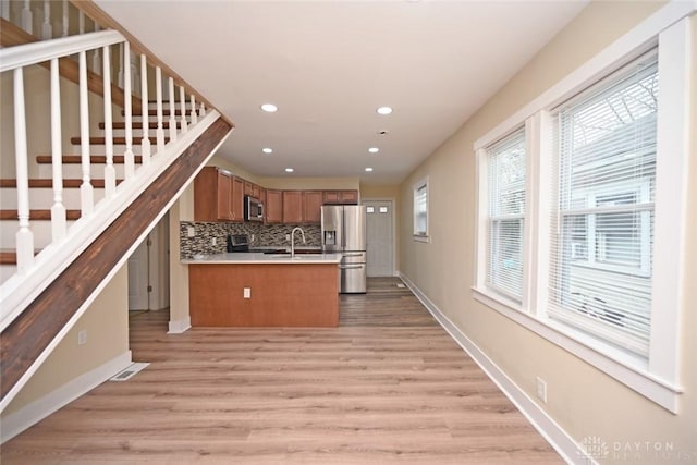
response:
[[[525,213],[525,129],[487,147],[487,285],[521,301]]]

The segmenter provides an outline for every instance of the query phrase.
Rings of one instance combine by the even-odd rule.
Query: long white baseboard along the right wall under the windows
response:
[[[554,448],[561,457],[570,464],[588,464],[592,460],[564,431],[547,412],[525,393],[509,376],[491,360],[469,338],[467,338],[406,276],[400,278],[436,318],[440,326],[477,363],[479,368],[501,389],[533,427]]]

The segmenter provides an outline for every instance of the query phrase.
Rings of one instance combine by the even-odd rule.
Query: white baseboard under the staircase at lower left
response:
[[[0,418],[0,443],[9,441],[53,412],[91,391],[131,364],[131,351],[126,351],[91,371],[69,381],[44,397]]]

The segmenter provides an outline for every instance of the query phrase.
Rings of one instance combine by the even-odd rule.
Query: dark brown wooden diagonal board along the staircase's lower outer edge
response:
[[[2,399],[231,130],[222,118],[211,124],[2,331]]]

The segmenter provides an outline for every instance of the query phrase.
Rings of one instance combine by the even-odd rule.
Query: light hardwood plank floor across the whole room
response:
[[[168,335],[131,318],[136,362],[2,445],[9,464],[562,463],[395,279],[341,296],[329,329]]]

